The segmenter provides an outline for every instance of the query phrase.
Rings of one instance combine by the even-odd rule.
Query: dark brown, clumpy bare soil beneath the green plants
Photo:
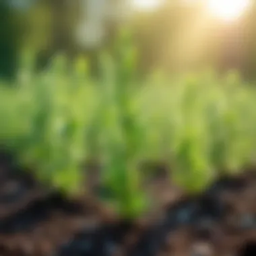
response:
[[[111,219],[98,203],[47,191],[0,155],[1,256],[256,255],[256,172],[222,177],[185,197],[164,175],[148,189],[158,211]]]

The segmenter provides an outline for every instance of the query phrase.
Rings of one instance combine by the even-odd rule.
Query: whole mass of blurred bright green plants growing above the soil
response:
[[[133,218],[150,206],[141,161],[168,162],[170,178],[189,193],[253,163],[256,92],[236,73],[161,73],[139,84],[135,49],[122,35],[115,57],[100,56],[97,80],[81,57],[69,73],[63,56],[37,75],[25,61],[30,79],[0,86],[0,143],[68,194],[82,191],[86,160],[102,161],[108,202]]]

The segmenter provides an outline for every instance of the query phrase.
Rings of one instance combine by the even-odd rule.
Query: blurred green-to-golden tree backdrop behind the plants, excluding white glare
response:
[[[0,0],[0,75],[11,77],[20,48],[38,52],[41,69],[55,53],[72,60],[86,55],[97,69],[97,52],[113,48],[117,31],[129,23],[139,48],[141,73],[238,68],[254,76],[256,8],[230,25],[205,15],[200,1],[166,1],[150,12],[134,11],[130,0]],[[196,1],[195,1],[196,2]]]

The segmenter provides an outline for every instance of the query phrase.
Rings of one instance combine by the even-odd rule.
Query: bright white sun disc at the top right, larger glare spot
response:
[[[207,0],[210,12],[226,21],[238,19],[249,7],[249,0]]]

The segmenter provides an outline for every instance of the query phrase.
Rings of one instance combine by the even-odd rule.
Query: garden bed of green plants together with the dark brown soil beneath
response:
[[[255,88],[236,73],[134,82],[131,53],[102,55],[96,80],[57,58],[1,87],[0,142],[30,171],[1,154],[0,255],[255,255]],[[237,176],[210,185],[220,170]]]

